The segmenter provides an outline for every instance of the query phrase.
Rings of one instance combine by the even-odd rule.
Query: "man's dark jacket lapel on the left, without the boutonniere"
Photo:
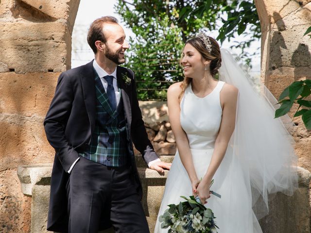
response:
[[[82,83],[83,97],[86,104],[86,112],[91,125],[91,132],[95,127],[95,74],[93,69],[93,60],[87,63],[80,73],[80,79]]]

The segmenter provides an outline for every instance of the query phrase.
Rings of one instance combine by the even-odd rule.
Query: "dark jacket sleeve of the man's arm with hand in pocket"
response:
[[[68,171],[73,162],[79,158],[78,152],[72,148],[65,136],[73,98],[69,76],[64,72],[58,78],[55,95],[44,120],[44,129],[65,171]]]

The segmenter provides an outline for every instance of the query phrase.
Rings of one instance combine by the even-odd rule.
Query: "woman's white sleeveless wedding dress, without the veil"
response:
[[[187,133],[193,164],[199,179],[207,171],[220,128],[223,112],[220,92],[224,84],[219,81],[213,91],[204,98],[197,97],[192,92],[190,84],[180,103],[180,123]],[[247,191],[249,188],[246,187],[250,184],[243,180],[240,166],[233,163],[232,151],[228,146],[210,188],[220,194],[221,198],[211,195],[205,206],[214,212],[215,221],[220,228],[219,233],[262,233],[252,211],[251,194]],[[177,151],[168,174],[158,216],[163,215],[168,204],[184,201],[180,196],[191,195],[191,182]],[[161,229],[161,223],[157,220],[155,233],[167,232],[168,229]]]

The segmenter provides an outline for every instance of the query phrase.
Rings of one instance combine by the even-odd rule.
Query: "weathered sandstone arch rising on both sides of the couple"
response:
[[[6,213],[0,215],[0,226],[8,233],[30,228],[31,199],[20,192],[17,166],[53,160],[42,122],[58,75],[70,68],[79,3],[0,0],[0,206]],[[311,26],[311,2],[255,0],[255,4],[262,31],[261,81],[278,96],[292,81],[311,78],[310,60],[303,57],[310,56],[311,40],[302,36]],[[311,133],[298,124],[296,151],[301,166],[311,169]]]

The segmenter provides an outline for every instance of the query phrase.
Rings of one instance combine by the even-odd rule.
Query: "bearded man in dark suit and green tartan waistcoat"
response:
[[[48,230],[148,233],[132,142],[148,166],[169,169],[148,139],[138,106],[134,73],[119,67],[129,48],[114,17],[90,26],[90,63],[63,72],[44,120],[55,149]]]

